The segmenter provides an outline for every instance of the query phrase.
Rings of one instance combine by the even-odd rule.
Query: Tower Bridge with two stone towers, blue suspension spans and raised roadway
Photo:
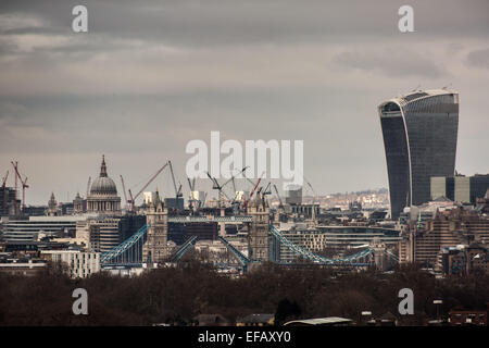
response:
[[[375,263],[377,266],[384,268],[386,257],[396,261],[396,256],[390,253],[385,245],[378,240],[368,248],[350,256],[326,258],[314,253],[289,240],[271,224],[268,203],[265,197],[260,194],[248,207],[247,215],[233,216],[168,216],[167,208],[156,194],[154,202],[150,204],[147,211],[147,224],[127,240],[124,240],[109,252],[104,252],[101,257],[102,265],[134,265],[142,263],[158,265],[168,261],[178,261],[188,250],[192,249],[198,237],[191,236],[175,249],[167,244],[168,223],[247,224],[248,256],[233,246],[225,235],[221,234],[218,236],[218,240],[236,257],[243,271],[251,264],[263,261],[278,262],[274,258],[272,240],[287,247],[298,259],[312,264],[358,268]]]

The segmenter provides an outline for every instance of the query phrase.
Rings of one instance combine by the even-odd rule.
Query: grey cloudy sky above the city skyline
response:
[[[76,4],[87,34],[72,32]],[[398,30],[402,4],[415,33]],[[0,174],[20,162],[27,203],[84,195],[102,153],[120,189],[120,174],[137,190],[167,159],[184,183],[186,144],[221,130],[304,140],[317,192],[387,187],[376,107],[449,84],[456,169],[487,173],[487,0],[3,0]],[[150,188],[171,195],[170,183]]]

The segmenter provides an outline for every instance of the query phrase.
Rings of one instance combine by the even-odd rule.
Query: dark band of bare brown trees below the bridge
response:
[[[88,291],[88,315],[74,315],[72,293]],[[398,314],[401,288],[414,291],[414,315]],[[137,277],[98,273],[70,279],[59,268],[33,277],[0,275],[0,325],[151,325],[190,324],[201,313],[236,320],[250,313],[276,313],[279,321],[343,316],[360,321],[362,311],[398,315],[401,324],[422,325],[461,306],[486,308],[489,277],[435,279],[417,266],[392,274],[375,271],[335,273],[329,269],[286,269],[265,263],[240,278],[217,273],[196,259],[178,268]],[[278,312],[277,312],[278,309]]]

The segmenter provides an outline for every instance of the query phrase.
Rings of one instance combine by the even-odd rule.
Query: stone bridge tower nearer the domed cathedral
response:
[[[142,246],[142,262],[148,266],[164,262],[170,256],[168,241],[168,209],[156,191],[154,199],[146,211],[146,223],[149,226],[147,240]]]

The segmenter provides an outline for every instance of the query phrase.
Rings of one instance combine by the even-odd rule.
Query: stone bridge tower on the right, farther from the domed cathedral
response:
[[[251,216],[248,235],[248,258],[255,261],[268,261],[269,208],[266,197],[256,194],[248,207]]]

